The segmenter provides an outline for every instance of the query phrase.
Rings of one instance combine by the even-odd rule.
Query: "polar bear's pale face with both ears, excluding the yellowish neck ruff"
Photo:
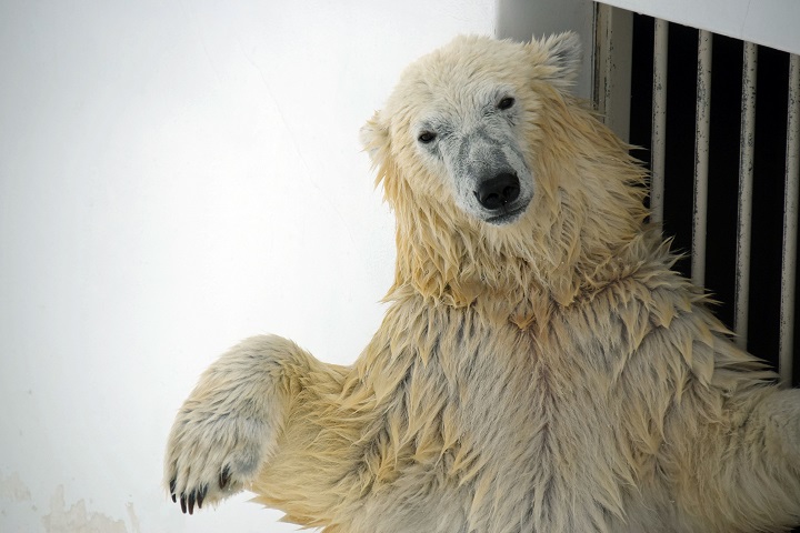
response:
[[[563,90],[578,39],[530,44],[460,37],[411,64],[387,107],[362,129],[390,203],[413,193],[470,220],[511,224],[537,193],[537,83]]]

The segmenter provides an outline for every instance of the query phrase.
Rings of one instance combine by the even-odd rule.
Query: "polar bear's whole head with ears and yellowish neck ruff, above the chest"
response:
[[[567,304],[641,233],[642,170],[570,94],[580,57],[574,33],[470,36],[406,69],[361,130],[398,219],[394,291]]]

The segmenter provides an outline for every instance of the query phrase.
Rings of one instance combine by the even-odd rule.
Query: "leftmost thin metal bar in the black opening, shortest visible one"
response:
[[[663,222],[664,143],[667,139],[667,43],[669,22],[656,19],[653,39],[653,111],[651,141],[650,220]]]

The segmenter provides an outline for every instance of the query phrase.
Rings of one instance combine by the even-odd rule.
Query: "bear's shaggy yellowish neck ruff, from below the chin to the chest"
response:
[[[437,304],[480,305],[522,326],[646,263],[669,268],[656,253],[660,234],[643,224],[639,188],[614,192],[608,185],[598,200],[591,190],[569,187],[580,183],[577,177],[559,181],[521,220],[500,228],[410,193],[406,205],[396,204],[397,269],[387,300],[413,294]]]

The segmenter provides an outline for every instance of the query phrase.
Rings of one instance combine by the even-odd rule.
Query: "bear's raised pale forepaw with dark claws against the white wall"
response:
[[[164,459],[164,482],[184,513],[254,480],[276,451],[293,378],[312,361],[291,341],[254,336],[202,374],[178,412]]]

